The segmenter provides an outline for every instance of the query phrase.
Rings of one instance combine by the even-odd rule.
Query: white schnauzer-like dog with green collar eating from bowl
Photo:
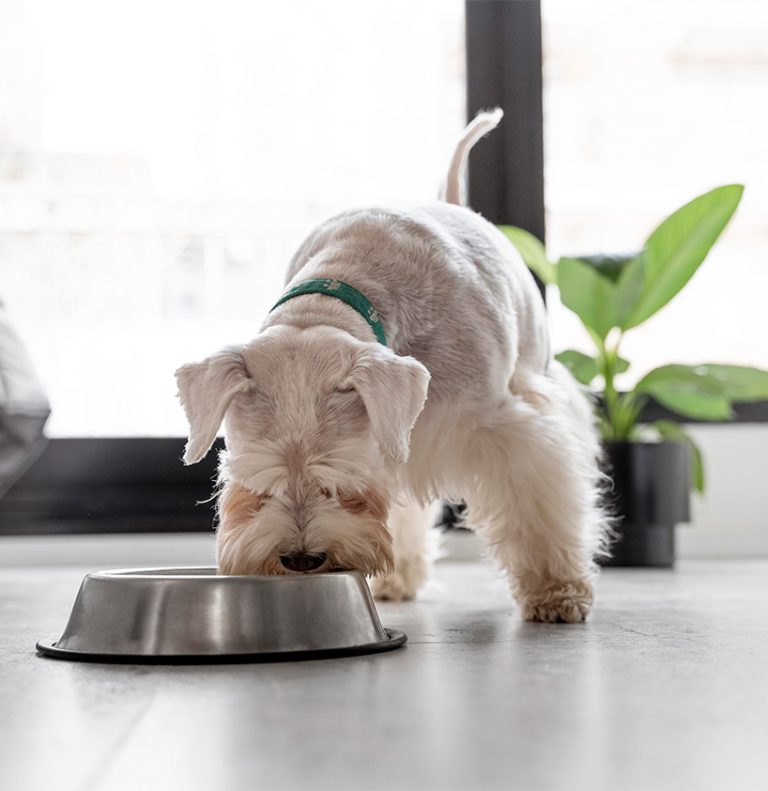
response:
[[[516,250],[457,205],[469,149],[500,118],[467,127],[446,202],[327,221],[259,335],[177,371],[185,463],[225,425],[222,573],[359,569],[380,597],[410,598],[430,504],[449,498],[523,618],[586,617],[606,535],[590,405],[552,359]]]

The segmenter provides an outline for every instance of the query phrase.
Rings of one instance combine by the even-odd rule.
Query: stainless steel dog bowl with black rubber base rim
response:
[[[255,662],[389,651],[359,572],[225,577],[214,568],[86,575],[46,656],[98,662]]]

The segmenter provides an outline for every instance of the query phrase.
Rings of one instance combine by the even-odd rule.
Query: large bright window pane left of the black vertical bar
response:
[[[461,0],[17,0],[0,24],[0,299],[48,434],[181,436],[174,369],[251,338],[325,217],[437,195]]]

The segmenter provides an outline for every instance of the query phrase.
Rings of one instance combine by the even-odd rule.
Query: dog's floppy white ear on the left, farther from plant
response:
[[[242,352],[225,349],[176,371],[179,398],[189,422],[184,464],[196,464],[211,449],[230,401],[254,386]]]

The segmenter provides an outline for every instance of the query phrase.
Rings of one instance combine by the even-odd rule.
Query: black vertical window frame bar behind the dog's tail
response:
[[[469,160],[469,203],[544,241],[541,3],[466,0],[467,112],[501,107]]]

